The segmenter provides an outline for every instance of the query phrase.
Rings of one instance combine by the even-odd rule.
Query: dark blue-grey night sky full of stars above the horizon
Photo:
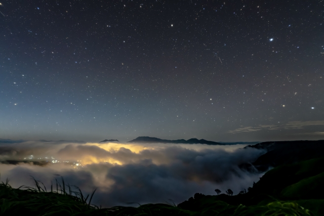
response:
[[[324,139],[324,1],[0,3],[0,138]]]

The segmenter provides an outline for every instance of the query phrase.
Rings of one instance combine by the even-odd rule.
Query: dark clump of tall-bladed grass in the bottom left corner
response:
[[[58,185],[57,190],[47,192],[36,182],[35,188],[12,188],[8,181],[0,184],[1,215],[104,215],[94,205],[87,203],[89,196],[73,192]]]

